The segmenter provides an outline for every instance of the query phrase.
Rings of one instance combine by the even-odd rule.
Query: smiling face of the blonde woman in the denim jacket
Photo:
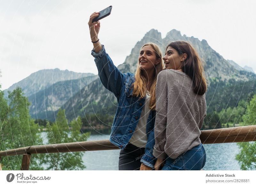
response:
[[[156,59],[156,53],[150,46],[144,46],[140,51],[139,67],[141,70],[150,71],[156,68],[156,65],[161,62],[161,59]]]

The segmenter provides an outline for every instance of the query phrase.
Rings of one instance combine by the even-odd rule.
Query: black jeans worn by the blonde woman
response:
[[[145,148],[139,148],[128,143],[119,155],[119,170],[140,170],[140,159],[145,153]]]

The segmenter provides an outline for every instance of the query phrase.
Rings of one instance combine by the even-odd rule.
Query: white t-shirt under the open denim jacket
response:
[[[148,116],[150,113],[149,100],[150,100],[150,93],[147,91],[145,103],[140,114],[140,120],[135,128],[132,138],[130,139],[130,143],[132,145],[135,145],[140,148],[145,148],[148,142],[146,127],[147,127]]]

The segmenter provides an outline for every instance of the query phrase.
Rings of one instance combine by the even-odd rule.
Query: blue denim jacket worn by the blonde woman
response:
[[[98,68],[101,83],[114,93],[118,102],[109,140],[120,149],[124,149],[130,141],[140,119],[145,97],[139,99],[139,97],[132,96],[132,84],[135,80],[134,74],[121,73],[106,53],[104,45],[102,45],[99,53],[95,53],[92,50],[92,56],[95,58],[94,61]],[[156,161],[156,158],[153,156],[155,116],[156,111],[150,111],[146,126],[148,142],[145,147],[145,153],[140,160],[144,165],[151,168],[154,168]]]

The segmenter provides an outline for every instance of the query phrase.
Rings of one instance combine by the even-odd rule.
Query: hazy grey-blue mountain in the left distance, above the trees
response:
[[[32,118],[47,118],[54,121],[54,111],[97,77],[92,73],[61,71],[58,68],[44,69],[13,84],[4,90],[4,95],[7,97],[7,91],[21,87],[28,101],[31,102],[29,111]]]

